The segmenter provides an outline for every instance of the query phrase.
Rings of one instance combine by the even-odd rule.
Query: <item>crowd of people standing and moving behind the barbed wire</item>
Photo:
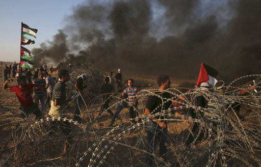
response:
[[[15,66],[15,64],[14,64]],[[22,117],[28,117],[30,114],[34,114],[36,119],[42,118],[45,115],[46,108],[48,107],[49,101],[50,109],[48,115],[53,117],[65,117],[65,106],[66,103],[71,101],[74,97],[66,98],[66,85],[65,83],[69,81],[70,75],[69,72],[65,69],[60,69],[58,72],[59,81],[56,83],[55,79],[51,77],[50,74],[53,74],[53,67],[50,68],[50,74],[47,72],[47,65],[45,64],[40,69],[36,69],[34,74],[31,73],[30,69],[22,70],[14,66],[12,67],[13,78],[15,77],[14,73],[17,75],[18,86],[9,87],[8,84],[13,81],[8,74],[10,74],[11,67],[6,66],[3,74],[4,75],[4,89],[9,89],[12,92],[15,92],[17,98],[21,104],[20,110],[22,112]],[[9,69],[10,68],[10,69]],[[18,70],[15,71],[15,70]],[[19,70],[22,70],[19,71]],[[33,77],[33,81],[31,78]],[[75,98],[75,110],[73,115],[73,120],[81,122],[80,118],[80,109],[84,97],[84,89],[87,88],[85,81],[88,79],[86,73],[81,74],[77,77],[75,82],[75,90],[77,92]],[[148,154],[147,154],[147,165],[152,165],[153,156],[151,156],[153,150],[155,150],[156,143],[159,143],[160,147],[160,156],[166,160],[166,141],[167,141],[167,112],[170,110],[174,115],[181,116],[177,109],[173,109],[176,105],[173,103],[173,97],[166,90],[170,88],[171,81],[169,76],[160,75],[156,82],[158,83],[158,91],[155,91],[155,95],[148,97],[145,107],[145,115],[148,116],[149,122],[147,124],[147,137],[148,137]],[[124,85],[122,85],[124,84]],[[151,87],[151,85],[140,86],[140,87]],[[250,88],[241,90],[234,93],[232,96],[242,96],[245,95],[248,91],[255,89],[256,85],[253,85]],[[208,91],[211,86],[207,82],[202,82],[200,89],[202,91]],[[34,100],[31,95],[31,91],[34,92]],[[225,83],[224,81],[218,81],[215,85],[216,91],[213,94],[222,94],[224,95]],[[121,112],[123,108],[129,109],[129,119],[132,125],[139,122],[138,116],[138,101],[139,101],[139,89],[134,86],[134,80],[132,78],[127,79],[125,82],[122,82],[122,73],[121,69],[118,69],[116,75],[113,77],[113,72],[109,72],[108,76],[104,79],[104,84],[100,88],[100,93],[102,94],[102,105],[99,110],[98,117],[103,113],[108,112],[112,116],[111,123],[109,127],[112,127],[115,119]],[[109,107],[110,100],[112,99],[111,95],[120,93],[121,101],[117,106],[116,112],[113,113]],[[209,92],[210,93],[210,92]],[[117,96],[117,94],[115,95]],[[41,103],[41,109],[38,108],[39,101]],[[212,102],[208,101],[202,93],[198,93],[193,99],[191,99],[193,104],[196,107],[201,108],[212,108]],[[215,108],[212,108],[215,109]],[[237,110],[237,109],[236,109]],[[188,112],[191,114],[193,119],[200,119],[203,117],[202,113],[197,113],[195,108],[188,108]],[[181,118],[181,117],[180,117]],[[184,118],[182,118],[184,119]],[[66,121],[56,121],[54,124],[60,124],[63,126],[63,133],[66,136],[69,136],[71,133],[70,124]],[[189,146],[195,140],[203,140],[204,134],[203,131],[199,134],[198,138],[195,138],[196,129],[199,127],[198,122],[194,122],[186,145]],[[71,143],[71,138],[67,137],[66,144],[64,146],[64,153],[68,150],[69,144]]]

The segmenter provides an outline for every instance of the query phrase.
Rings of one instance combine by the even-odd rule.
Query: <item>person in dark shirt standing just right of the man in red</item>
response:
[[[46,89],[45,89],[45,79],[43,79],[43,73],[39,71],[38,78],[34,80],[34,96],[35,96],[35,103],[39,105],[39,100],[41,102],[41,112],[44,114],[44,103],[45,103],[45,96],[46,96]]]

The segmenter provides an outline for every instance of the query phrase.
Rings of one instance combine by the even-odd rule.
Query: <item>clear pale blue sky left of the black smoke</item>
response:
[[[58,29],[64,26],[64,19],[71,14],[72,8],[83,1],[80,0],[12,0],[0,1],[0,61],[16,61],[20,59],[21,22],[33,29],[38,29],[35,44],[26,45],[31,50],[40,43],[50,40]]]

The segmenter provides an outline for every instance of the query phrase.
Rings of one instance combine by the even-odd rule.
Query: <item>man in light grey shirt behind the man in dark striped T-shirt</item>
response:
[[[47,92],[47,97],[46,97],[46,100],[45,100],[45,106],[47,107],[47,105],[49,104],[49,101],[53,97],[53,90],[54,90],[54,87],[55,87],[55,81],[54,81],[53,77],[51,77],[47,73],[47,71],[43,71],[43,75],[45,77],[45,82],[46,82],[45,89],[46,89],[46,92]]]

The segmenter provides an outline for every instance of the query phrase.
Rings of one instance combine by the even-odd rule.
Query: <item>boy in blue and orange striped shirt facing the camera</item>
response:
[[[138,98],[136,94],[139,93],[139,90],[133,86],[133,83],[133,79],[128,79],[128,88],[123,91],[122,97],[124,97],[124,93],[128,94],[129,118],[131,119],[131,123],[136,123],[135,117],[138,116]]]

